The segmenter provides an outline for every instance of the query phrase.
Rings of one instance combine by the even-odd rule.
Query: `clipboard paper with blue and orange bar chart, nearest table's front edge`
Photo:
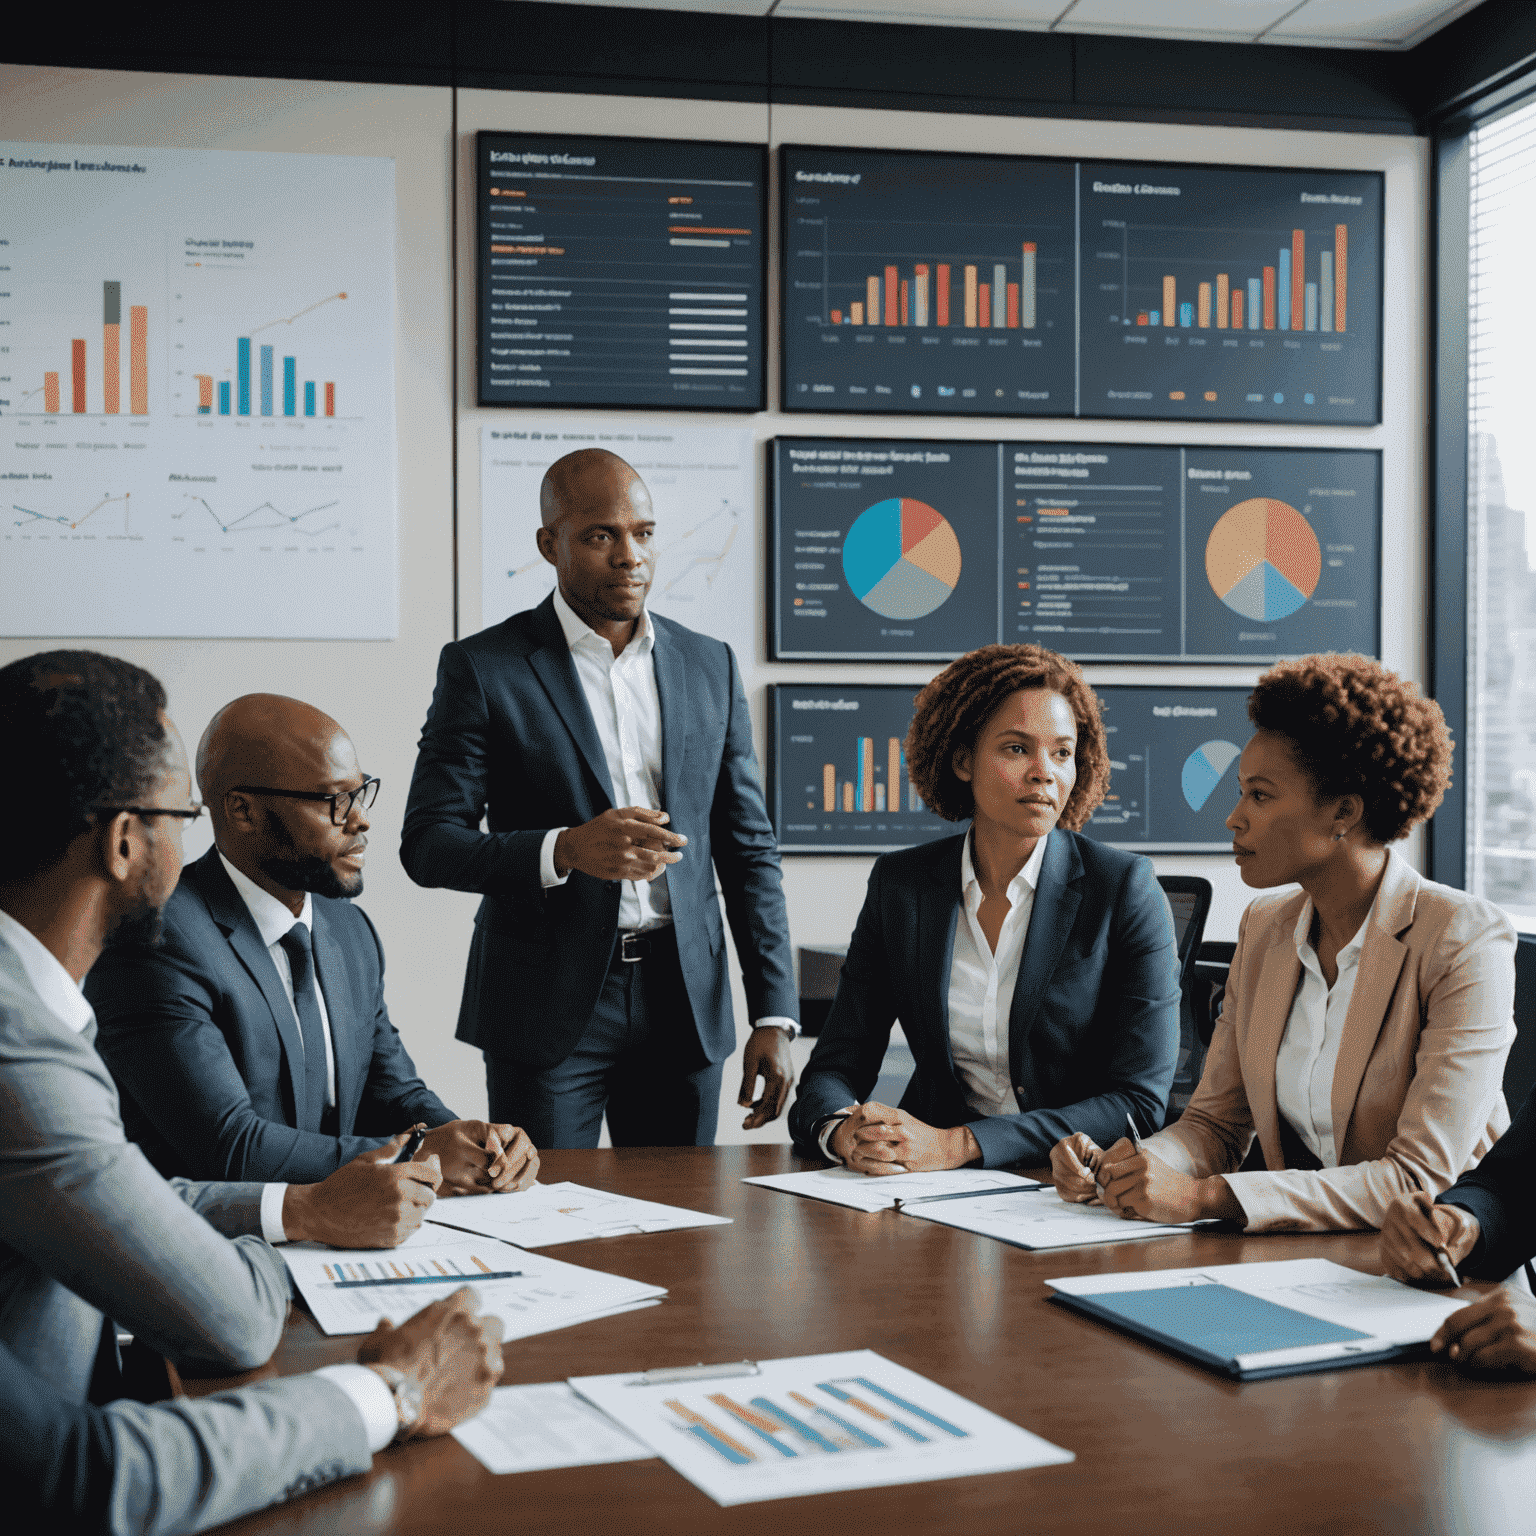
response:
[[[727,1508],[1075,1459],[874,1350],[770,1359],[708,1381],[621,1373],[571,1385]]]

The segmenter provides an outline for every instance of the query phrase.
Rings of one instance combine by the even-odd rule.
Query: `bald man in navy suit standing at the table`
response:
[[[567,455],[539,510],[558,587],[442,648],[401,859],[484,897],[458,1038],[485,1054],[495,1118],[590,1147],[607,1111],[616,1146],[708,1146],[736,1038],[716,876],[754,1026],[743,1124],[774,1120],[794,1081],[746,696],[727,645],[647,610],[656,516],[624,459]]]

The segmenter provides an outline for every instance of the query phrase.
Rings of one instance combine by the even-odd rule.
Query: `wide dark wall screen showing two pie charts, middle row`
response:
[[[774,660],[1379,650],[1373,450],[779,438],[773,455]]]

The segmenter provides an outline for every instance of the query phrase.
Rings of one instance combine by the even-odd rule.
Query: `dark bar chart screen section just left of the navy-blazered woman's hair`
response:
[[[886,854],[954,837],[906,774],[917,688],[768,688],[768,805],[785,854]]]

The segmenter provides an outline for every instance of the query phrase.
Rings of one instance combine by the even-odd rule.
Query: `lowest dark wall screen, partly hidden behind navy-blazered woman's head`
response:
[[[768,803],[785,854],[880,854],[954,837],[926,809],[903,743],[919,688],[768,688]],[[1226,852],[1236,763],[1253,734],[1247,688],[1098,685],[1109,793],[1087,837],[1140,852]]]

